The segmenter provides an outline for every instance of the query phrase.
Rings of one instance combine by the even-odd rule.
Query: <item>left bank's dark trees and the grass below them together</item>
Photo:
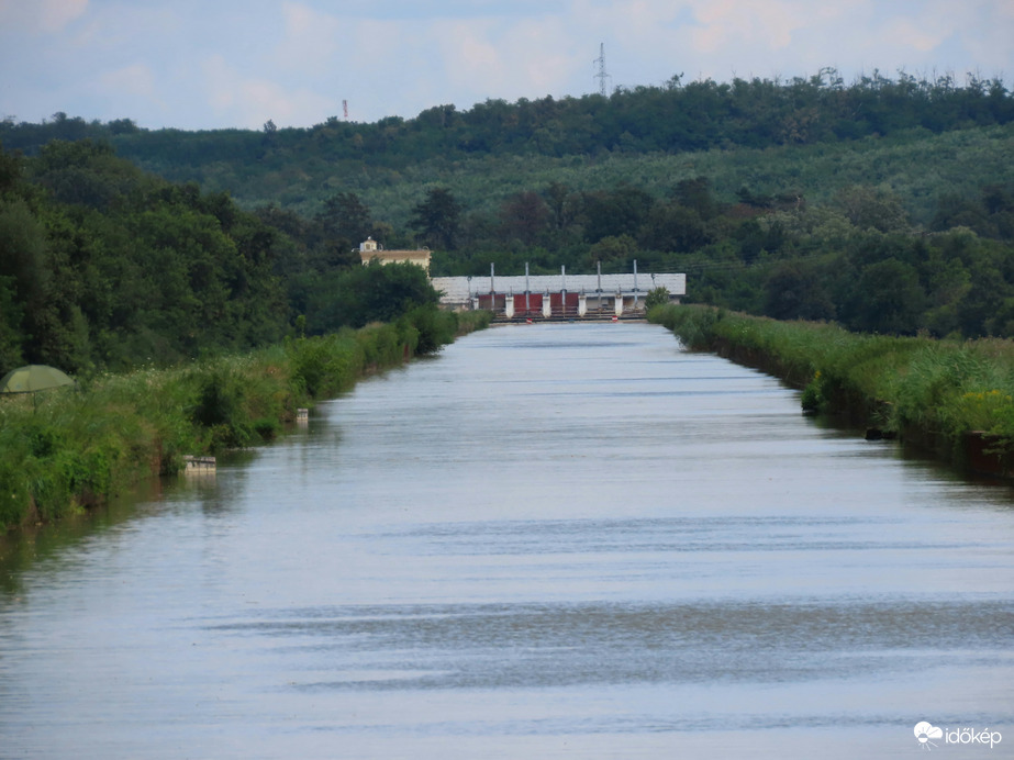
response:
[[[0,152],[0,375],[77,379],[0,395],[0,528],[269,439],[296,409],[488,318],[439,311],[423,269],[364,267],[345,246],[311,252],[108,145]]]

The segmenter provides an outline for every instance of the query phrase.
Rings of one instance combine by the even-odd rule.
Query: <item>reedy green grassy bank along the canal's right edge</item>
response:
[[[860,335],[707,306],[660,306],[648,318],[690,348],[714,350],[803,389],[807,411],[845,415],[962,468],[1012,473],[1012,340]]]

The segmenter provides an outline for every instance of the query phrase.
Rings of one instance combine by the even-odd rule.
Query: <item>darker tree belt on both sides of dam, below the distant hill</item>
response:
[[[995,163],[995,161],[994,161]],[[354,192],[313,216],[239,209],[226,193],[145,175],[90,141],[3,154],[0,368],[80,371],[174,361],[286,334],[388,322],[437,293],[417,268],[361,267],[367,236],[428,245],[433,275],[523,270],[684,271],[688,301],[854,331],[1014,335],[1014,183],[938,188],[925,223],[890,188],[744,185],[724,200],[703,176],[661,194],[617,182],[539,190],[472,211],[422,192],[405,227]]]

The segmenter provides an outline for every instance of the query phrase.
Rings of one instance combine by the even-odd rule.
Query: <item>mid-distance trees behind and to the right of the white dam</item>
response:
[[[436,248],[435,275],[482,275],[490,262],[499,272],[525,262],[535,273],[629,271],[636,259],[645,272],[687,272],[691,302],[857,332],[1014,336],[1014,182],[968,197],[940,188],[925,224],[889,188],[847,186],[822,204],[803,192],[744,186],[725,201],[706,177],[661,197],[628,183],[577,191],[554,181],[468,212],[434,188],[410,230]],[[328,208],[370,219],[355,193],[334,200]],[[389,241],[408,237],[372,228],[385,226]]]

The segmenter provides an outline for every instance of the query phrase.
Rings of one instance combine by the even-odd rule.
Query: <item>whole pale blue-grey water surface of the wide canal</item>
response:
[[[491,329],[214,478],[8,539],[0,755],[1014,741],[1011,503],[660,328]]]

